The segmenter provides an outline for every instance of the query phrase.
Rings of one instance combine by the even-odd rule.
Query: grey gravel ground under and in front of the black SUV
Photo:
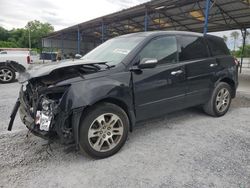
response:
[[[0,187],[250,187],[250,97],[228,114],[197,108],[139,124],[122,150],[93,160],[27,135],[16,118],[7,132],[17,83],[0,85]]]

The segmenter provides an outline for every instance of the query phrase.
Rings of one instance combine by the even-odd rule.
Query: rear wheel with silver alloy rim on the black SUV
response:
[[[227,113],[232,100],[232,88],[225,82],[220,82],[213,90],[211,98],[203,106],[204,111],[214,117]]]

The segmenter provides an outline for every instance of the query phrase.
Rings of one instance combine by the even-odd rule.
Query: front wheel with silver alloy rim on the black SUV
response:
[[[91,107],[80,123],[80,150],[93,158],[106,158],[117,153],[128,137],[126,112],[111,103]]]

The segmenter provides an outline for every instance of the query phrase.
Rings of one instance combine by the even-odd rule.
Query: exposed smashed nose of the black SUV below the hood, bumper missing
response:
[[[60,108],[61,99],[68,87],[47,88],[38,82],[34,85],[29,82],[21,87],[19,114],[32,133],[48,139],[59,136],[61,140],[67,138],[67,142],[73,141],[72,128],[67,125],[70,112],[65,113]]]

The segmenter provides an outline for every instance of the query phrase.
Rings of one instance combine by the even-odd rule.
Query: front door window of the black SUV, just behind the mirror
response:
[[[139,53],[139,58],[153,58],[158,64],[177,62],[177,43],[175,36],[159,37],[150,41]]]

